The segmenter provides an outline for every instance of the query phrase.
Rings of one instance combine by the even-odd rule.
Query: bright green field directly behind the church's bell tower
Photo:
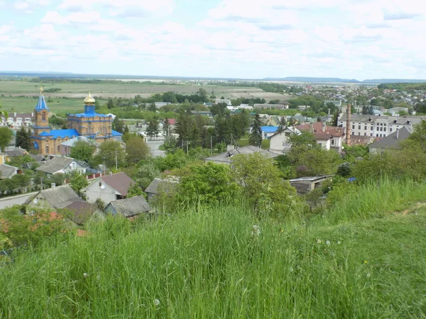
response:
[[[48,98],[46,97],[46,101]],[[54,98],[51,102],[46,102],[50,111],[58,113],[58,115],[65,115],[66,113],[76,113],[83,111],[84,105],[82,99],[59,99]],[[105,103],[106,101],[100,101]],[[35,108],[37,97],[9,97],[0,96],[0,106],[9,113],[29,113]]]

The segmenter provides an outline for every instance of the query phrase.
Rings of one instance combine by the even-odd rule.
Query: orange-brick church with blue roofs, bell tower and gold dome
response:
[[[34,109],[33,135],[31,147],[41,155],[60,155],[61,143],[83,136],[97,143],[114,138],[120,139],[121,133],[112,129],[113,118],[110,115],[94,111],[94,99],[90,95],[84,99],[84,113],[67,114],[67,129],[51,130],[49,126],[50,110],[40,89],[37,105]]]

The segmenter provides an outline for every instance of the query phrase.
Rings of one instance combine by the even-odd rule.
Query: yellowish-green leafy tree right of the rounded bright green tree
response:
[[[297,211],[299,200],[295,189],[284,181],[273,159],[260,152],[232,157],[232,177],[256,213],[285,216]]]

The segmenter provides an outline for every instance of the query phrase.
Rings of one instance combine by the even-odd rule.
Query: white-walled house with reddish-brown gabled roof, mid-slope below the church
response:
[[[95,203],[97,199],[100,199],[108,205],[111,201],[125,198],[129,188],[134,184],[135,181],[124,172],[110,173],[94,179],[92,184],[83,189],[82,192],[86,194],[89,203]]]

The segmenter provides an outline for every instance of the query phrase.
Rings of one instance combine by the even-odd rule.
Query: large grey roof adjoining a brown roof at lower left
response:
[[[66,208],[75,201],[83,201],[70,185],[63,185],[51,189],[43,189],[43,191],[39,191],[35,196],[28,198],[26,203],[40,196],[47,201],[50,206],[56,209]]]

